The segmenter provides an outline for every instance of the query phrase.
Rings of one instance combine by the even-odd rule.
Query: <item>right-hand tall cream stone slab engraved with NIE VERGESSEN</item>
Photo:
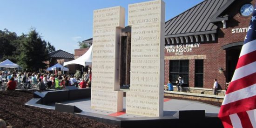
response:
[[[165,3],[162,0],[128,6],[131,37],[131,82],[126,113],[163,115]]]

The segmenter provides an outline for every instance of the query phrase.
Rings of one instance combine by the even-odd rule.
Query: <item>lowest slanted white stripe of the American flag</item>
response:
[[[229,104],[231,102],[239,101],[245,98],[249,98],[256,95],[256,84],[253,84],[247,88],[239,89],[235,92],[225,95],[222,105]]]

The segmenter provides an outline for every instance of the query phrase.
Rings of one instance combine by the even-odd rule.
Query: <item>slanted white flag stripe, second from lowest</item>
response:
[[[256,61],[252,62],[248,65],[245,65],[243,67],[239,67],[235,70],[235,73],[233,75],[233,78],[231,81],[236,81],[238,79],[241,79],[249,74],[256,73]]]

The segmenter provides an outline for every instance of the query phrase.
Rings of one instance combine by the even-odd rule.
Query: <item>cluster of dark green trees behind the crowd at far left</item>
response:
[[[42,40],[35,28],[32,28],[29,34],[22,33],[20,36],[7,29],[0,30],[0,47],[0,61],[9,59],[23,69],[31,71],[46,68],[43,61],[48,60],[48,53],[55,51],[55,47]]]

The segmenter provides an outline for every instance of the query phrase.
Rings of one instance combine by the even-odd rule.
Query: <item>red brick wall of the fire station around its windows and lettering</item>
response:
[[[231,4],[227,10],[223,13],[229,15],[227,21],[227,28],[222,28],[222,22],[215,23],[218,26],[216,41],[212,42],[199,42],[199,47],[192,49],[192,52],[183,52],[183,55],[175,55],[175,53],[167,53],[165,50],[165,77],[164,81],[169,81],[169,60],[185,60],[184,56],[190,56],[189,60],[189,87],[195,87],[195,55],[203,55],[204,58],[204,69],[203,69],[203,88],[212,88],[214,79],[216,78],[221,85],[222,89],[225,89],[226,81],[226,51],[222,49],[222,46],[240,42],[244,40],[245,33],[232,34],[233,28],[243,28],[249,26],[251,16],[243,17],[240,12],[240,7],[251,2],[255,5],[255,0],[236,0]],[[197,42],[196,42],[197,43]],[[191,57],[192,56],[192,57]],[[194,57],[193,57],[194,56]],[[223,74],[220,74],[218,69],[222,67],[224,70]]]

